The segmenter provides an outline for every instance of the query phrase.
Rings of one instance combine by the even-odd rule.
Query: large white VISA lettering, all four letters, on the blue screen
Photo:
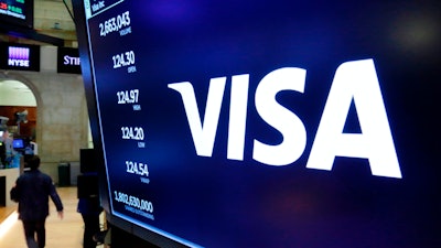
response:
[[[260,118],[278,130],[283,140],[267,144],[254,140],[252,159],[268,165],[289,165],[304,152],[305,127],[294,112],[281,106],[282,90],[304,91],[306,71],[283,67],[266,75],[255,93]],[[209,82],[204,119],[190,82],[169,84],[180,93],[197,155],[212,157],[227,77]],[[227,158],[244,160],[249,75],[232,77]],[[305,95],[308,97],[308,95]],[[362,133],[344,133],[354,101]],[[401,179],[401,171],[373,60],[346,62],[336,69],[306,163],[309,169],[333,168],[335,157],[368,159],[373,175]]]

